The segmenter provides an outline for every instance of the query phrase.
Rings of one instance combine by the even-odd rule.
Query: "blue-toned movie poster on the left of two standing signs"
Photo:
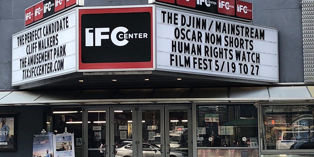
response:
[[[33,157],[53,157],[53,133],[36,134],[33,138]]]

